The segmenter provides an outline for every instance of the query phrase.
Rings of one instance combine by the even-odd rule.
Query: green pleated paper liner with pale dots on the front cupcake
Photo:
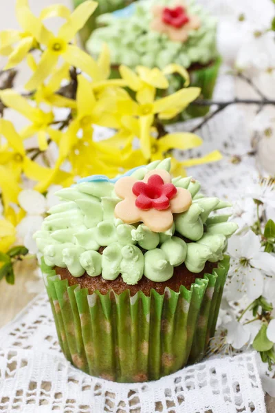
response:
[[[65,357],[92,376],[132,383],[157,380],[199,361],[214,334],[229,268],[225,256],[190,290],[166,288],[131,297],[69,286],[42,261],[47,294]]]

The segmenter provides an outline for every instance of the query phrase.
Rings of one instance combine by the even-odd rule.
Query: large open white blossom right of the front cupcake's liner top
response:
[[[263,294],[264,274],[275,275],[275,257],[261,248],[259,237],[252,231],[235,235],[228,242],[232,257],[226,297],[238,300],[246,293],[252,300]]]

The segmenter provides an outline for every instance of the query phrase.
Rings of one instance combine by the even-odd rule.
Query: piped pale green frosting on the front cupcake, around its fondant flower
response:
[[[142,180],[153,169],[170,171],[170,159],[135,169],[132,176]],[[129,285],[137,284],[143,275],[164,282],[183,262],[189,271],[200,273],[206,261],[222,259],[227,238],[237,226],[228,222],[230,215],[212,212],[230,204],[203,196],[197,180],[178,176],[173,184],[190,191],[192,204],[188,211],[174,215],[173,225],[164,233],[155,233],[142,222],[130,225],[115,218],[120,200],[111,181],[88,179],[58,191],[63,202],[48,211],[41,231],[34,235],[45,263],[68,268],[74,277],[87,272],[113,280],[121,275]]]

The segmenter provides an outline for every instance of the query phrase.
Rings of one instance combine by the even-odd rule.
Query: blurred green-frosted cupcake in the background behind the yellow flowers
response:
[[[217,19],[195,1],[139,0],[97,19],[100,28],[92,32],[86,47],[98,56],[103,43],[109,45],[113,76],[118,66],[159,67],[175,63],[190,73],[191,84],[201,87],[210,99],[217,79],[220,58],[217,52]],[[168,93],[184,86],[184,79],[171,75]],[[182,119],[203,116],[207,107],[188,108]]]

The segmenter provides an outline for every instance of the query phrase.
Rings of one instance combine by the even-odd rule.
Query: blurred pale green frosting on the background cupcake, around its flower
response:
[[[204,65],[217,58],[217,19],[211,17],[195,1],[190,1],[188,14],[198,16],[201,27],[191,30],[184,43],[171,41],[166,34],[150,28],[152,7],[155,4],[171,5],[169,0],[140,0],[135,2],[130,16],[102,14],[98,17],[98,23],[102,27],[91,34],[86,44],[87,50],[98,56],[102,43],[107,43],[111,50],[111,63],[132,68],[136,65],[162,68],[169,63],[189,67],[192,63]],[[176,78],[173,80],[177,81]]]

